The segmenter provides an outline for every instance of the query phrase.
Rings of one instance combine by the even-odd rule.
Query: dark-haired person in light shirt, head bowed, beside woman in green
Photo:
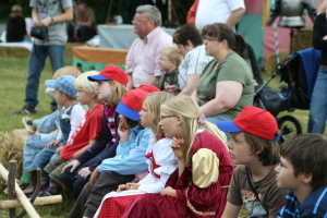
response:
[[[167,86],[167,92],[191,96],[196,88],[199,75],[213,57],[206,56],[199,32],[191,24],[181,26],[173,34],[173,43],[184,57],[179,66],[179,85]]]

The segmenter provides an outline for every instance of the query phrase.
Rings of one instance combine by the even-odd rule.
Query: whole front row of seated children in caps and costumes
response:
[[[218,122],[219,130],[191,97],[147,85],[126,92],[124,72],[112,65],[74,82],[77,99],[89,110],[70,134],[74,126],[64,122],[72,123],[77,106],[72,81],[60,76],[46,83],[63,105],[60,134],[68,136],[52,136],[25,157],[27,141],[21,178],[26,189],[27,172],[40,167],[45,186],[50,177],[41,196],[65,186],[76,199],[68,217],[237,218],[242,205],[250,217],[326,215],[325,136],[295,136],[279,153],[278,126],[269,112],[245,107],[233,121]],[[231,133],[229,143],[222,131]]]

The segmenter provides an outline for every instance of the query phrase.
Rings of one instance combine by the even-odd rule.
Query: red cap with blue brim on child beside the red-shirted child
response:
[[[116,81],[128,85],[129,77],[125,72],[116,65],[106,65],[98,75],[87,76],[89,81]]]

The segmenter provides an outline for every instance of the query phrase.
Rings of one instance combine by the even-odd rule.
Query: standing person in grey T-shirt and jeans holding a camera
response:
[[[29,55],[28,77],[25,88],[25,106],[16,114],[36,113],[37,92],[40,73],[45,68],[46,58],[50,57],[52,71],[63,66],[64,45],[68,39],[66,21],[73,19],[71,0],[48,1],[31,0],[33,25],[47,29],[46,39],[34,39]],[[56,101],[51,102],[57,108]],[[51,109],[52,109],[51,107]]]

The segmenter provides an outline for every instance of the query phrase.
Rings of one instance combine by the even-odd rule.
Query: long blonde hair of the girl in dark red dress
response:
[[[181,116],[183,118],[182,128],[186,146],[186,149],[184,152],[186,166],[191,166],[192,162],[192,145],[194,143],[196,131],[198,129],[205,129],[216,135],[228,149],[227,137],[225,133],[220,131],[215,124],[207,121],[205,121],[204,123],[206,128],[203,128],[198,124],[197,120],[201,117],[199,108],[190,96],[175,96],[162,104],[161,109],[169,111],[172,116]]]

